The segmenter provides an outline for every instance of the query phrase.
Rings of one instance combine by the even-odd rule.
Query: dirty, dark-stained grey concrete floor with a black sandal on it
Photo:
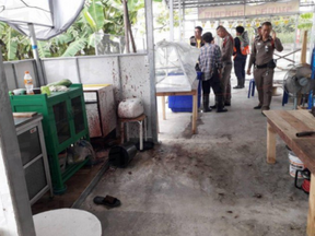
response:
[[[283,109],[281,98],[272,109]],[[266,163],[266,118],[256,105],[257,94],[248,99],[247,90],[233,90],[229,113],[200,114],[194,135],[190,114],[168,110],[165,121],[160,114],[161,144],[127,168],[110,168],[82,209],[110,236],[305,235],[308,197],[294,187],[279,138],[277,164]],[[106,194],[121,206],[93,203]]]

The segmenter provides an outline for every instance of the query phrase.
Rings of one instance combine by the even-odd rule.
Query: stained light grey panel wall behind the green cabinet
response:
[[[150,74],[145,54],[86,56],[42,59],[45,83],[69,79],[72,83],[113,84],[116,107],[125,98],[140,97],[148,115],[148,137],[152,137]],[[28,70],[34,86],[39,86],[35,60],[5,62],[9,90],[24,87],[24,71]],[[138,138],[138,125],[131,123],[130,138]]]

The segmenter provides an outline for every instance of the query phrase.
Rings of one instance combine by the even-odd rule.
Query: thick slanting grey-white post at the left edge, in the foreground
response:
[[[24,169],[8,93],[2,55],[0,54],[0,234],[35,236]]]

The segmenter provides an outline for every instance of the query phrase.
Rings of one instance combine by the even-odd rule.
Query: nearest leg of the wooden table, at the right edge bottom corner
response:
[[[308,198],[307,235],[315,236],[315,174],[311,176],[311,191]]]

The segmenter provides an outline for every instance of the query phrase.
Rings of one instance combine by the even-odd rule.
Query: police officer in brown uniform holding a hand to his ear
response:
[[[275,31],[272,31],[272,37],[270,36],[271,31],[272,25],[270,22],[262,23],[261,36],[256,37],[253,43],[247,74],[250,75],[250,68],[254,64],[254,79],[259,99],[258,106],[254,107],[254,109],[270,109],[273,70],[276,68],[273,51],[275,49],[278,51],[283,50],[283,46],[280,39],[276,37]]]

